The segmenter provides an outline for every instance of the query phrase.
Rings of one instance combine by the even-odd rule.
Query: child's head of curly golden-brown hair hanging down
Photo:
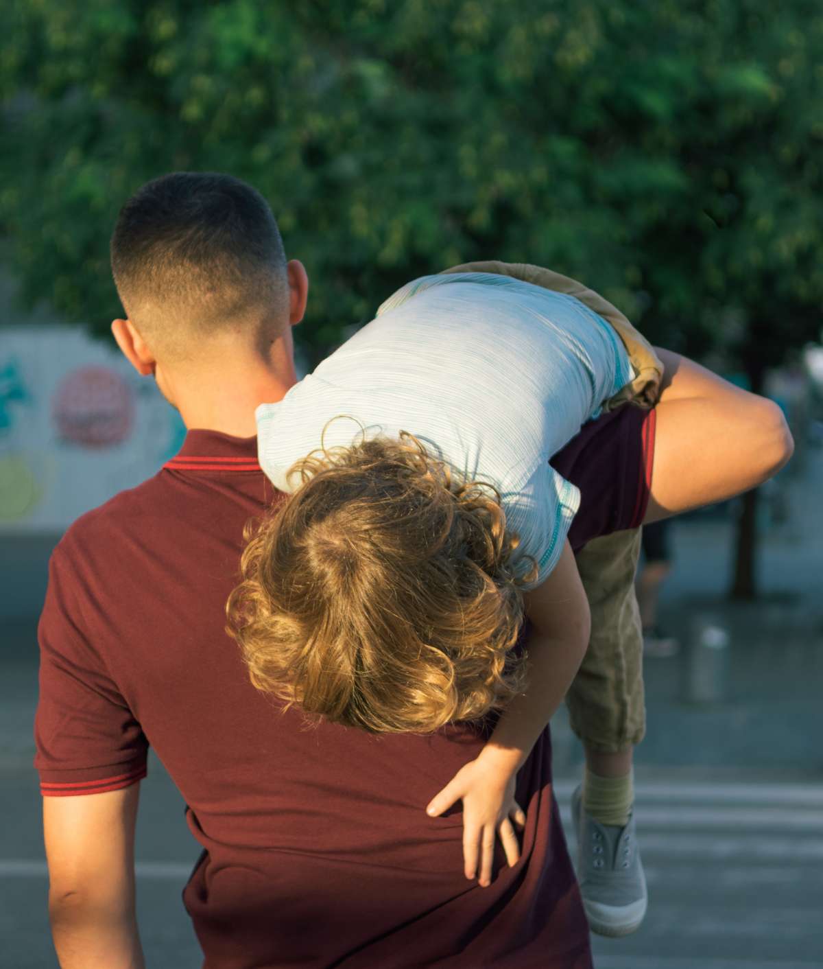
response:
[[[229,599],[255,686],[376,733],[472,720],[523,688],[523,616],[494,489],[411,435],[310,454]]]

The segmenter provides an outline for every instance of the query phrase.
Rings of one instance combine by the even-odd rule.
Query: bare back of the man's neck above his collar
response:
[[[178,379],[174,399],[190,429],[253,437],[255,409],[282,400],[296,382],[290,348],[276,345],[271,359],[227,355],[218,367]]]

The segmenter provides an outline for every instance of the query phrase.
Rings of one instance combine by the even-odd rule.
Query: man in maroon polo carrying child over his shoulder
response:
[[[149,744],[203,849],[184,903],[206,969],[591,966],[548,731],[518,777],[521,860],[499,859],[480,889],[462,874],[460,813],[424,807],[484,736],[307,730],[254,689],[225,633],[244,525],[276,498],[255,408],[295,382],[290,328],[308,292],[266,203],[226,175],[158,179],[124,206],[112,267],[128,314],[117,343],[189,433],[154,478],[82,516],[50,565],[36,766],[63,969],[143,964],[134,832]],[[656,453],[654,411],[612,412],[552,461],[582,491],[572,547],[756,484],[785,460],[776,415],[705,380],[718,434],[700,461],[720,465],[742,439],[756,467],[716,475],[696,498],[676,408],[656,419]],[[693,453],[686,463],[695,472]]]

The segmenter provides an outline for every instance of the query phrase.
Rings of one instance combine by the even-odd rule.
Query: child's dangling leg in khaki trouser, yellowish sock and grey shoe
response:
[[[643,639],[634,592],[640,529],[595,539],[577,553],[592,610],[589,649],[566,696],[586,753],[572,798],[577,877],[595,932],[626,935],[646,914],[632,805],[634,747],[646,730]]]

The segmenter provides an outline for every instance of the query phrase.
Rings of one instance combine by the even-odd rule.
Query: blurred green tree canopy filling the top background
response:
[[[315,356],[415,275],[551,266],[754,389],[823,302],[819,0],[11,0],[0,220],[23,295],[99,332],[119,206],[256,185]]]

